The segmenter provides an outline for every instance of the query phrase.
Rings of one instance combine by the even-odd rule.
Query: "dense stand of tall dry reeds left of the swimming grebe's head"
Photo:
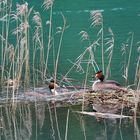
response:
[[[54,40],[54,34],[52,33],[53,2],[54,1],[46,0],[43,3],[43,7],[50,15],[49,20],[46,22],[46,25],[49,29],[46,39],[47,46],[46,42],[44,44],[45,29],[43,29],[43,21],[39,12],[34,11],[33,7],[29,8],[27,2],[23,2],[23,4],[15,4],[11,1],[10,3],[6,2],[2,4],[4,10],[3,14],[1,15],[2,17],[0,21],[2,22],[2,34],[0,35],[2,46],[0,61],[0,80],[2,87],[8,85],[7,94],[9,88],[9,81],[12,81],[12,84],[10,84],[10,86],[13,85],[14,93],[16,89],[21,86],[23,86],[24,88],[28,88],[33,83],[34,87],[36,87],[36,85],[44,83],[48,78],[49,52],[50,49],[54,49],[52,48]],[[15,11],[13,11],[12,9],[12,5],[14,4],[16,5]],[[8,7],[9,9],[5,7]],[[58,45],[57,56],[55,58],[54,54],[53,58],[55,80],[57,76],[57,65],[59,61],[59,54],[63,35],[65,29],[67,28],[65,16],[63,14],[61,14],[61,16],[62,20],[64,21],[64,25],[57,28],[56,34],[59,34],[60,41]],[[33,34],[30,29],[30,19],[33,21]],[[12,25],[12,28],[9,28],[9,25]],[[4,33],[4,31],[6,31],[6,34]],[[9,36],[10,38],[12,37],[14,42],[12,41],[11,43]]]

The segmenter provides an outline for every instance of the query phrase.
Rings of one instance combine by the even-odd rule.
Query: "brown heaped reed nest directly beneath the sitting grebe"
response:
[[[113,114],[140,115],[140,91],[97,92],[85,94],[85,104],[93,111]]]

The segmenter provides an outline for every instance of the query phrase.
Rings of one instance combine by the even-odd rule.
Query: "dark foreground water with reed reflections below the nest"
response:
[[[35,102],[0,106],[1,140],[133,140],[139,121],[96,119],[76,113],[80,106],[58,107]]]

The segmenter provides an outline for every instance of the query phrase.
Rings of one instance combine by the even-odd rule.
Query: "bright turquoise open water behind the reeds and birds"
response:
[[[13,1],[14,3],[17,1]],[[46,22],[49,20],[48,11],[45,10],[42,6],[43,0],[38,2],[37,0],[29,1],[29,8],[33,7],[33,10],[39,11],[41,15],[41,19],[43,21],[43,30],[44,30],[44,48],[47,48],[47,40],[48,40],[48,27]],[[19,2],[21,4],[21,2]],[[130,48],[130,32],[134,33],[131,61],[128,73],[128,85],[134,83],[135,76],[135,68],[136,62],[138,58],[137,48],[138,45],[136,43],[140,40],[140,2],[135,0],[133,2],[122,0],[122,1],[103,1],[103,0],[76,0],[76,1],[54,1],[53,5],[53,17],[52,17],[52,26],[54,33],[54,47],[57,51],[58,43],[60,37],[55,35],[57,31],[57,27],[62,26],[62,16],[61,12],[65,16],[67,20],[67,25],[69,26],[66,29],[63,37],[63,42],[61,46],[61,52],[58,63],[58,73],[65,75],[67,71],[70,69],[72,64],[70,61],[74,62],[75,59],[86,49],[87,44],[82,43],[79,33],[81,31],[87,31],[92,40],[95,40],[95,36],[97,32],[95,29],[91,27],[91,19],[90,12],[94,10],[99,10],[103,15],[103,25],[104,25],[104,39],[109,36],[109,28],[112,29],[114,34],[114,52],[113,58],[111,62],[111,70],[110,70],[110,79],[114,79],[124,84],[123,78],[123,65],[124,65],[124,57],[122,56],[121,48],[122,44],[125,44],[129,39],[129,45],[127,48],[127,52]],[[30,16],[30,34],[33,35],[33,27],[32,27],[32,14]],[[104,47],[106,49],[106,47]],[[52,56],[52,49],[49,55],[49,70],[52,74],[54,72],[54,60]],[[32,51],[31,51],[32,52]],[[100,69],[102,69],[101,63],[101,47],[95,52],[95,59],[98,63]],[[70,61],[69,61],[70,60]],[[128,60],[128,53],[127,53]],[[105,68],[107,67],[108,60],[107,54],[105,53]],[[89,81],[92,80],[91,76],[94,74],[94,71],[91,70],[89,74]],[[80,81],[84,81],[85,73],[81,74],[75,72],[75,69],[69,74],[69,77],[79,79]]]

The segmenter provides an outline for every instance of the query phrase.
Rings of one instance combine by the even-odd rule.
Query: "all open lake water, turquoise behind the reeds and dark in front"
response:
[[[23,0],[24,1],[24,0]],[[13,9],[16,3],[21,1],[13,0]],[[43,0],[27,0],[28,6],[39,11],[44,29],[44,46],[47,45],[48,27],[46,22],[49,14],[42,7]],[[82,43],[79,33],[89,32],[90,38],[94,40],[96,31],[91,28],[90,12],[100,10],[103,15],[104,38],[107,38],[108,29],[114,33],[115,47],[111,63],[110,78],[124,84],[123,69],[124,57],[121,46],[130,39],[130,32],[134,33],[132,55],[129,67],[128,84],[134,83],[136,62],[138,58],[136,43],[140,40],[140,1],[139,0],[55,0],[53,7],[53,32],[62,26],[61,12],[67,19],[68,29],[64,33],[62,47],[58,63],[58,73],[65,75],[71,68],[75,59],[86,49],[87,44]],[[31,14],[32,16],[32,14]],[[12,27],[13,25],[11,25]],[[30,31],[33,35],[32,19],[30,19]],[[15,39],[9,36],[10,42],[14,44]],[[32,39],[32,37],[31,37]],[[59,36],[55,36],[54,47],[58,49]],[[128,49],[130,40],[128,41]],[[31,46],[30,46],[31,47]],[[32,48],[32,47],[31,47]],[[30,51],[32,53],[32,50]],[[49,55],[49,70],[53,69],[53,50]],[[128,57],[128,54],[127,54]],[[102,69],[101,47],[97,48],[95,59]],[[70,61],[69,61],[70,60]],[[32,62],[32,61],[31,61]],[[30,62],[30,63],[31,63]],[[39,63],[36,63],[39,65]],[[105,67],[108,64],[105,54]],[[86,70],[86,67],[84,67]],[[89,73],[89,85],[94,74]],[[80,83],[85,80],[85,73],[78,73],[75,69],[68,75]],[[124,84],[125,85],[125,84]],[[88,108],[91,109],[90,107]],[[46,102],[18,104],[16,111],[12,111],[11,105],[0,106],[0,139],[1,140],[137,140],[139,137],[140,121],[134,127],[133,120],[97,120],[95,117],[82,116],[75,113],[80,111],[80,106],[52,107]],[[69,117],[67,121],[69,111]],[[68,127],[66,127],[66,123]],[[66,131],[67,129],[67,131]]]

